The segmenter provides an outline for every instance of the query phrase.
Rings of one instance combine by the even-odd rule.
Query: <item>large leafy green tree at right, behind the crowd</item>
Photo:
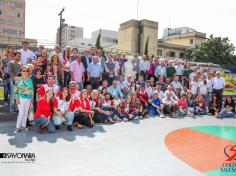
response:
[[[211,62],[216,64],[232,64],[234,62],[235,47],[229,43],[228,37],[210,37],[200,47],[190,49],[190,59],[198,62]]]

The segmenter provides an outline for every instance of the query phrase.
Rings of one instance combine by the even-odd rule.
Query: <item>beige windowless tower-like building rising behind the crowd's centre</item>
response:
[[[150,20],[130,20],[120,24],[118,34],[118,49],[130,53],[144,54],[144,48],[149,37],[149,54],[156,55],[158,39],[158,22]]]

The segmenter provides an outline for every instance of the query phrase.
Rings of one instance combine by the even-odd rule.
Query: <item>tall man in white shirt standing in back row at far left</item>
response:
[[[29,50],[29,42],[22,42],[22,49],[20,49],[18,52],[21,53],[20,62],[22,65],[27,65],[36,58],[34,53]]]

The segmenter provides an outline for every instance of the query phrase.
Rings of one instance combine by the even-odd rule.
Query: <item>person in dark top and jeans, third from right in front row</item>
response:
[[[206,101],[203,99],[201,94],[197,95],[197,98],[194,100],[195,105],[195,114],[196,115],[206,115],[208,112],[208,107]]]

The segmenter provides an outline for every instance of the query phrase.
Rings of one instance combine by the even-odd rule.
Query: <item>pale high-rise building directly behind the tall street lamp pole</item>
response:
[[[57,29],[56,41],[59,43],[59,30]],[[61,45],[62,48],[68,45],[68,42],[75,38],[83,38],[84,29],[82,27],[70,26],[68,24],[62,25],[62,33],[61,33]]]

